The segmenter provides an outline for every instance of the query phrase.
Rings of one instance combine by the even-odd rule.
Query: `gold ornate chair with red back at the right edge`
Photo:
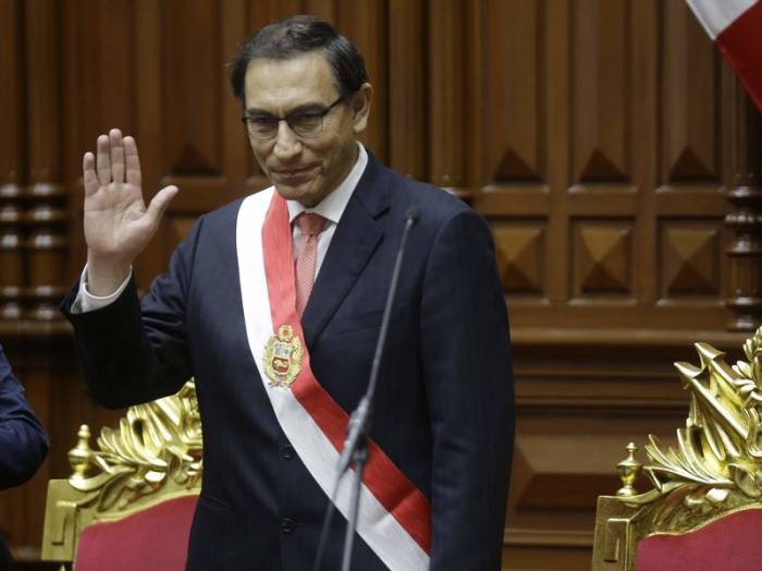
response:
[[[598,498],[593,571],[762,568],[762,328],[735,365],[695,347],[700,366],[675,364],[690,393],[677,447],[650,435],[643,467],[629,444],[622,488]],[[653,489],[638,494],[641,470]]]

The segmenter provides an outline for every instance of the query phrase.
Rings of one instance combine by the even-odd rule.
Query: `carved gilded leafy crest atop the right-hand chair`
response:
[[[642,470],[654,488],[635,493],[631,484],[640,466],[628,472],[623,471],[627,461],[619,464],[625,487],[617,499],[638,508],[632,523],[651,521],[651,534],[685,533],[762,497],[762,327],[743,344],[747,361],[735,365],[706,343],[695,347],[700,366],[675,363],[690,393],[677,448],[663,450],[653,435],[646,445],[650,463]],[[635,451],[630,447],[627,460]]]

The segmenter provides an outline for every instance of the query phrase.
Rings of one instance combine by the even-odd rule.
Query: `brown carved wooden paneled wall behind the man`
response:
[[[145,288],[199,214],[267,184],[225,63],[295,13],[365,54],[368,147],[493,230],[518,390],[505,569],[589,568],[624,446],[684,422],[672,362],[737,351],[762,313],[762,121],[672,0],[0,0],[0,342],[52,444],[0,531],[34,561],[46,481],[82,422],[116,417],[54,311],[84,263],[82,154],[120,126],[148,197],[181,189]]]

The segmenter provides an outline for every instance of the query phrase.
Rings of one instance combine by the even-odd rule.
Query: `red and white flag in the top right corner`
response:
[[[687,2],[762,111],[762,1]]]

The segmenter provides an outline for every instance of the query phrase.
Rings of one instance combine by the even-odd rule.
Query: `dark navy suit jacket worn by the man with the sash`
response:
[[[142,306],[71,315],[96,399],[121,408],[196,378],[204,482],[188,569],[309,570],[327,497],[294,454],[251,357],[235,227],[241,202],[202,216]],[[303,316],[316,377],[351,412],[364,393],[405,212],[413,229],[379,377],[371,437],[431,501],[434,570],[500,569],[514,389],[505,300],[483,219],[373,157]],[[62,308],[67,313],[76,286]],[[334,517],[325,569],[341,561]],[[359,538],[354,569],[385,569]]]

